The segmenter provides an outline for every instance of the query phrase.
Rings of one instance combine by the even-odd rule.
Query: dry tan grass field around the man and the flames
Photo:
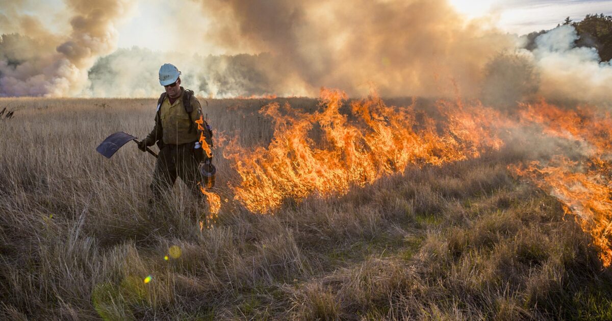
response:
[[[257,113],[268,100],[201,101],[215,138],[271,140]],[[507,169],[534,146],[259,215],[233,201],[239,176],[220,142],[222,207],[201,231],[207,204],[181,182],[147,208],[151,155],[131,142],[110,160],[95,152],[115,131],[146,135],[154,103],[0,99],[18,109],[0,119],[0,319],[612,319],[612,273],[591,235]]]

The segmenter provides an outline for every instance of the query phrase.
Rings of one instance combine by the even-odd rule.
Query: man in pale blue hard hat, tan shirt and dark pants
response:
[[[159,201],[163,193],[171,190],[177,177],[200,196],[198,165],[208,158],[200,145],[201,131],[195,123],[201,116],[200,102],[192,90],[181,86],[181,72],[172,64],[164,64],[159,69],[159,83],[165,92],[157,101],[155,126],[138,144],[143,152],[154,144],[160,148],[151,183],[153,197],[149,202]],[[203,125],[207,128],[207,124]],[[212,132],[204,130],[204,139],[212,146]]]

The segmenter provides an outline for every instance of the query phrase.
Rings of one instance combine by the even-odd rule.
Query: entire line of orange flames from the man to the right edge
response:
[[[547,136],[577,142],[573,160],[560,151],[550,160],[509,169],[557,197],[565,212],[575,214],[575,221],[592,236],[602,263],[612,263],[609,113],[589,106],[562,109],[540,101],[521,104],[517,121],[458,98],[438,101],[439,117],[432,117],[417,112],[414,102],[387,106],[376,94],[348,106],[346,100],[341,91],[321,89],[320,110],[313,114],[277,102],[262,108],[259,113],[274,125],[269,146],[247,149],[234,138],[224,152],[241,178],[230,184],[234,199],[252,212],[270,213],[285,199],[345,194],[351,186],[401,173],[407,166],[441,166],[480,157],[504,145],[499,128],[535,124]]]

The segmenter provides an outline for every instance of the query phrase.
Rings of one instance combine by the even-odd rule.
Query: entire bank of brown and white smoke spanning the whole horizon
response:
[[[571,26],[523,50],[517,36],[487,18],[466,21],[446,0],[182,0],[163,24],[193,26],[172,27],[180,39],[169,48],[181,52],[163,53],[114,49],[116,25],[138,0],[65,1],[63,29],[48,28],[45,8],[24,14],[42,5],[2,2],[0,31],[17,33],[0,40],[0,96],[155,97],[157,70],[172,62],[185,86],[212,97],[315,96],[326,86],[353,96],[371,87],[384,96],[458,89],[500,106],[535,96],[612,98],[612,67],[595,50],[575,48]]]

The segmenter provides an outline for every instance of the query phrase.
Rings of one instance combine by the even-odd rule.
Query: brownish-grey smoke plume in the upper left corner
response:
[[[73,96],[88,86],[87,70],[116,46],[115,24],[129,15],[132,0],[67,0],[63,13],[69,25],[62,35],[50,31],[29,9],[45,9],[30,1],[2,1],[2,30],[17,34],[0,38],[0,96]],[[49,13],[50,14],[50,13]],[[39,12],[40,18],[45,12]]]

